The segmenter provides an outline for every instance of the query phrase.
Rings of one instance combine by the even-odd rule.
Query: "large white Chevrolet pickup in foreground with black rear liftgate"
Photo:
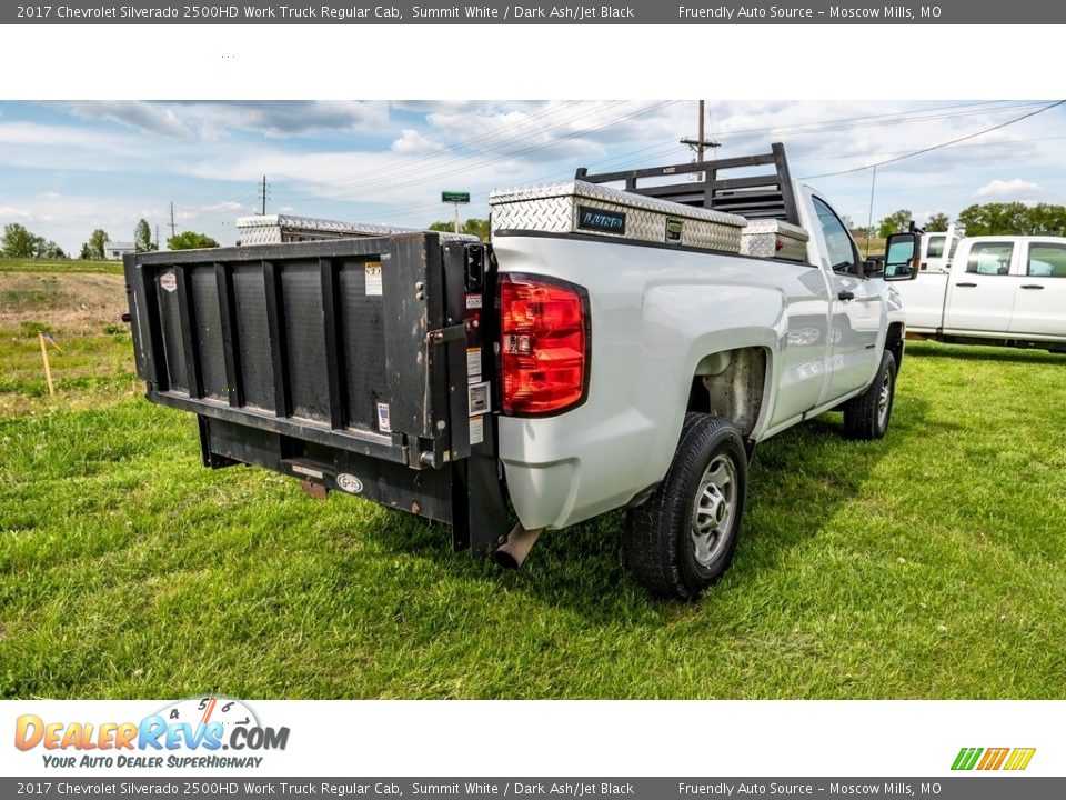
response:
[[[905,333],[887,281],[917,272],[917,237],[864,274],[780,144],[579,170],[491,204],[491,246],[399,233],[128,257],[148,398],[197,414],[208,467],[441,520],[501,562],[627,508],[634,574],[680,598],[728,566],[757,442],[841,407],[848,436],[884,436]]]

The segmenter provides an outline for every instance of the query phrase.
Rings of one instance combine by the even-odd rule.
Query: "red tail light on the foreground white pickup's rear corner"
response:
[[[583,289],[547,278],[500,277],[503,410],[557,413],[585,397],[589,312]]]

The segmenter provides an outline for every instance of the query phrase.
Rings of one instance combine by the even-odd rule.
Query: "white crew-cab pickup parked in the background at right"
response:
[[[1066,239],[963,239],[946,271],[922,272],[899,293],[908,333],[1066,351]]]

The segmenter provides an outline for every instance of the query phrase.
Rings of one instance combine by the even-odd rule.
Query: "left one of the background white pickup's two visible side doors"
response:
[[[1018,276],[1012,264],[1018,247],[1004,239],[975,239],[952,263],[944,304],[944,332],[1006,333]]]

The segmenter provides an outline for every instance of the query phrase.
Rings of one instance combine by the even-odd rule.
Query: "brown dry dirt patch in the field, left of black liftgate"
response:
[[[40,322],[66,333],[121,324],[125,280],[112,274],[0,272],[0,327]]]

